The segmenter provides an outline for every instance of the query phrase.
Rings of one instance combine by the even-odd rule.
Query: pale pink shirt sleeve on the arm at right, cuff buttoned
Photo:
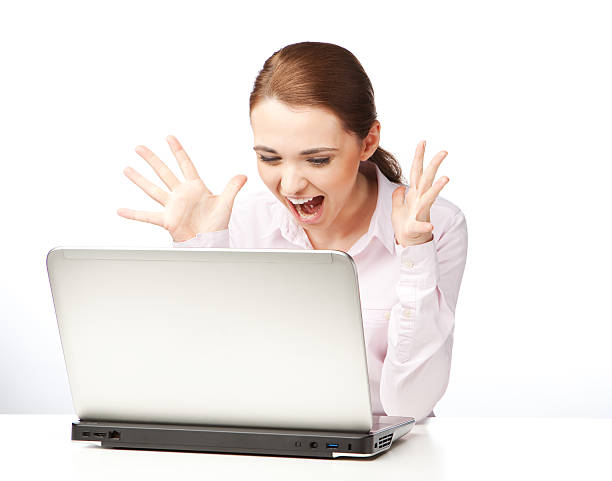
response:
[[[446,391],[467,240],[465,216],[459,210],[437,241],[398,246],[399,302],[391,309],[380,382],[387,415],[420,421]]]

